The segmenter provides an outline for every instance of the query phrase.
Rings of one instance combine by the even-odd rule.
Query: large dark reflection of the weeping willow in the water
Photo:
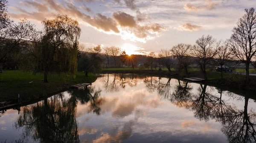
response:
[[[76,98],[54,95],[23,108],[15,127],[23,127],[23,138],[40,143],[79,143]]]

